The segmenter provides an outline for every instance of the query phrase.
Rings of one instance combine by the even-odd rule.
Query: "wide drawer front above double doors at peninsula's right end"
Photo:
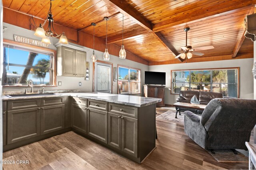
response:
[[[108,111],[128,117],[138,118],[138,107],[125,106],[122,104],[108,104]]]

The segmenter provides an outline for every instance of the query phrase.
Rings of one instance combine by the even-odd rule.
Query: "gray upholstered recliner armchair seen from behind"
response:
[[[256,100],[218,98],[202,117],[184,112],[185,133],[204,149],[246,149],[256,124]]]

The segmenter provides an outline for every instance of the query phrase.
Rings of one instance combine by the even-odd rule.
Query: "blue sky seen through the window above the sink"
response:
[[[28,54],[29,54],[28,51],[22,51],[22,50],[18,50],[18,49],[9,48],[9,63],[26,64],[27,60],[28,60]],[[8,48],[6,48],[6,55],[8,55]],[[38,63],[38,61],[41,59],[49,59],[49,56],[38,54],[38,56],[36,56],[36,58],[34,60],[33,65],[36,65]],[[6,69],[7,69],[7,67],[6,67]],[[9,70],[7,70],[7,72],[12,73],[13,71],[16,71],[16,72],[18,72],[18,74],[22,74],[23,70],[24,70],[24,67],[9,66]],[[40,81],[39,78],[34,78],[34,77],[32,77],[32,75],[28,76],[28,79],[32,79],[34,82]],[[46,77],[44,79],[44,83],[49,82],[49,80],[50,80],[50,74],[47,73]]]

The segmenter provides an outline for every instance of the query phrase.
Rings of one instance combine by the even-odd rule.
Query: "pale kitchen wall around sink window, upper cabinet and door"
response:
[[[14,41],[14,34],[15,35],[21,35],[24,37],[29,37],[31,39],[38,39],[40,40],[39,37],[34,36],[34,31],[30,31],[28,29],[24,29],[21,27],[17,27],[15,25],[10,25],[8,23],[4,23],[4,26],[8,27],[8,29],[4,32],[4,39],[9,39]],[[56,50],[56,47],[54,47],[55,43],[58,43],[58,39],[50,37],[51,45],[49,45],[49,49],[54,49]],[[84,92],[92,92],[92,76],[93,76],[93,68],[92,68],[92,61],[90,60],[90,57],[92,55],[92,49],[83,47],[80,45],[76,45],[73,43],[69,43],[70,45],[74,45],[77,47],[81,47],[84,49],[89,50],[86,53],[86,61],[90,62],[90,70],[89,70],[89,81],[84,80],[84,77],[67,77],[67,76],[57,76],[57,84],[58,81],[62,81],[62,86],[57,86],[57,87],[45,87],[45,90],[67,90],[67,89],[80,89],[81,91]],[[95,54],[97,56],[98,60],[103,61],[103,53],[101,51],[95,51]],[[134,61],[130,61],[127,59],[119,59],[119,57],[116,57],[114,55],[110,55],[110,61],[109,63],[113,63],[113,67],[117,67],[117,64],[122,64],[125,66],[131,66],[135,68],[140,68],[141,69],[141,92],[142,92],[142,86],[144,84],[144,71],[148,71],[148,65],[145,64],[140,64]],[[78,83],[82,82],[82,86],[78,86]],[[114,82],[113,84],[113,94],[117,93],[117,82]],[[24,87],[23,87],[24,88]],[[12,90],[21,90],[21,88],[11,88],[11,87],[4,87],[3,91],[12,91]]]

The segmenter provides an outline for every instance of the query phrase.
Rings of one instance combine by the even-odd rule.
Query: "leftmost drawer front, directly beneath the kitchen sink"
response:
[[[12,100],[7,102],[8,110],[26,109],[40,107],[40,99]]]

